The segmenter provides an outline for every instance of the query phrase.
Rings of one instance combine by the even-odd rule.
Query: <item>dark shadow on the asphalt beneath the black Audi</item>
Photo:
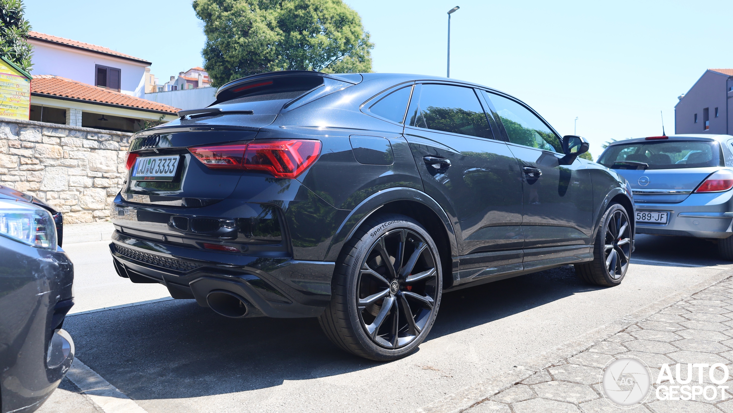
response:
[[[428,340],[591,289],[568,266],[445,294]],[[227,319],[193,300],[73,316],[65,329],[81,361],[136,400],[242,392],[380,364],[338,349],[317,319]]]

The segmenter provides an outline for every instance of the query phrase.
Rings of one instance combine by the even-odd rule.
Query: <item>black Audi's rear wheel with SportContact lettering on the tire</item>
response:
[[[400,241],[402,260],[396,258]],[[438,314],[438,248],[410,217],[370,217],[342,249],[331,290],[331,302],[318,318],[325,335],[359,357],[400,359],[424,341]]]

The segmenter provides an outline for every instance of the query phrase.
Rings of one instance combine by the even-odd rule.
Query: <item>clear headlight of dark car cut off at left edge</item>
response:
[[[0,235],[37,248],[56,250],[54,217],[26,202],[0,200]]]

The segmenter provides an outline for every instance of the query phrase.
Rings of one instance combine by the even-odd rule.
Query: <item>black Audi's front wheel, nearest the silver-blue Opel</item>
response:
[[[626,209],[611,204],[603,213],[593,248],[593,261],[575,264],[578,278],[596,286],[618,286],[631,258],[633,234]]]

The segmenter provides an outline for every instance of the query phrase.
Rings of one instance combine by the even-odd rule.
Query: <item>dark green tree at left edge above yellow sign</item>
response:
[[[0,53],[10,62],[29,72],[31,48],[26,42],[31,24],[23,17],[25,7],[21,0],[0,0]]]

